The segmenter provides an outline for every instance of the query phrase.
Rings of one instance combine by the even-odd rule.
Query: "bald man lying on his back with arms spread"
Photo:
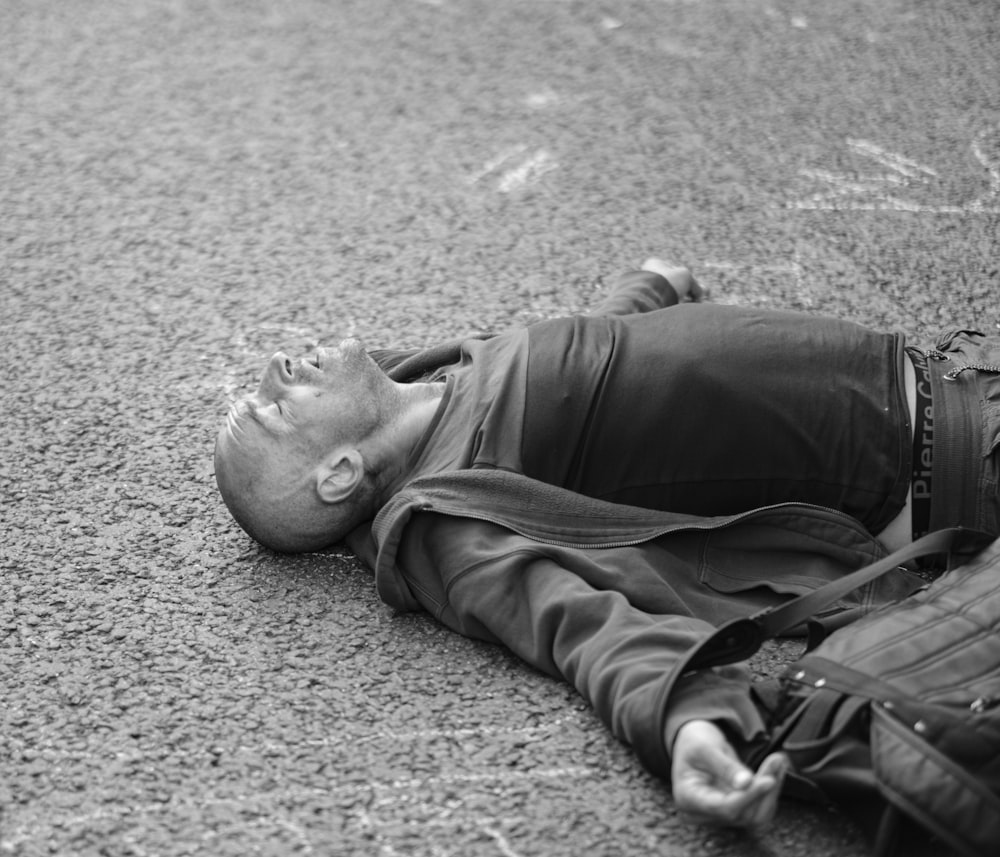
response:
[[[676,677],[730,618],[943,526],[996,536],[1000,340],[934,348],[716,306],[651,259],[592,313],[424,352],[276,354],[216,478],[278,551],[347,538],[380,597],[570,681],[678,806],[758,827],[786,762],[743,666]],[[843,624],[923,581],[899,570]]]

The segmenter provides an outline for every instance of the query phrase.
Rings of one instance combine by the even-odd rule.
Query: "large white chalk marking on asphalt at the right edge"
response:
[[[897,191],[929,187],[940,178],[937,170],[867,140],[848,139],[847,147],[856,155],[875,161],[890,172],[879,175],[836,173],[801,169],[799,174],[826,185],[826,190],[806,199],[788,203],[800,211],[902,211],[916,214],[972,215],[1000,214],[1000,155],[991,151],[1000,129],[980,132],[970,143],[973,157],[987,172],[989,189],[969,202],[927,204],[901,198]]]

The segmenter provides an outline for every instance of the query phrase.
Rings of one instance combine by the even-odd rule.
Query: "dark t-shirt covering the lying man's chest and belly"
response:
[[[712,304],[541,322],[463,349],[418,470],[698,515],[814,503],[878,532],[909,478],[900,360],[894,334]]]

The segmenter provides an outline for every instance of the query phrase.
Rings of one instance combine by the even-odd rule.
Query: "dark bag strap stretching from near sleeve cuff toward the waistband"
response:
[[[800,595],[780,607],[769,607],[752,616],[733,619],[688,650],[675,668],[675,675],[744,661],[756,654],[765,640],[801,625],[810,616],[829,607],[858,587],[911,560],[929,554],[950,552],[958,536],[964,532],[966,531],[962,527],[953,527],[928,533],[884,559],[830,581],[819,589]]]

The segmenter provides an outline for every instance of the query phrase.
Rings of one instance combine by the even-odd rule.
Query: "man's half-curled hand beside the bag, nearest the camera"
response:
[[[760,832],[774,819],[787,768],[788,759],[775,753],[755,774],[714,723],[691,720],[674,740],[674,802],[699,821]]]

